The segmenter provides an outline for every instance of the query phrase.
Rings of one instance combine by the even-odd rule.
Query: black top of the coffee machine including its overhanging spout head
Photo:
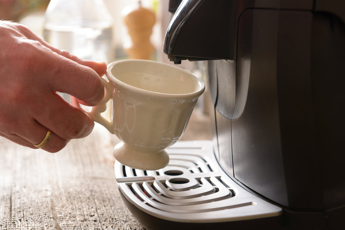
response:
[[[175,11],[179,0],[170,1]],[[181,60],[236,60],[238,19],[248,8],[330,12],[345,21],[344,1],[336,0],[183,0],[164,40],[164,53],[175,64]],[[224,13],[226,12],[226,13]]]

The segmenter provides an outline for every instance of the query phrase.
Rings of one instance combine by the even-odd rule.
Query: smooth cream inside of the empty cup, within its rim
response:
[[[194,74],[169,64],[146,60],[123,60],[114,63],[115,79],[136,88],[165,94],[190,94],[200,91],[203,83]]]

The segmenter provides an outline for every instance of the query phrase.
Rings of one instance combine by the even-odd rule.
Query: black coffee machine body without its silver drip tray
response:
[[[208,60],[218,163],[282,229],[344,229],[345,1],[184,0],[164,52]]]

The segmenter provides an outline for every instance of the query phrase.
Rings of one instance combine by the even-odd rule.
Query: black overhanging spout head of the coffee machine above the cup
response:
[[[175,64],[181,60],[235,60],[236,12],[244,6],[239,1],[182,1],[166,32],[163,52]],[[219,9],[229,13],[220,14]]]

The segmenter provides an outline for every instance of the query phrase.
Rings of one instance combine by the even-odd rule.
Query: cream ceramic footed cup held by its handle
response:
[[[205,84],[179,67],[148,60],[121,60],[108,65],[103,79],[105,96],[91,111],[74,106],[115,134],[122,143],[114,156],[120,163],[142,170],[165,167],[169,156],[165,148],[184,133]],[[110,103],[110,121],[100,114]]]

